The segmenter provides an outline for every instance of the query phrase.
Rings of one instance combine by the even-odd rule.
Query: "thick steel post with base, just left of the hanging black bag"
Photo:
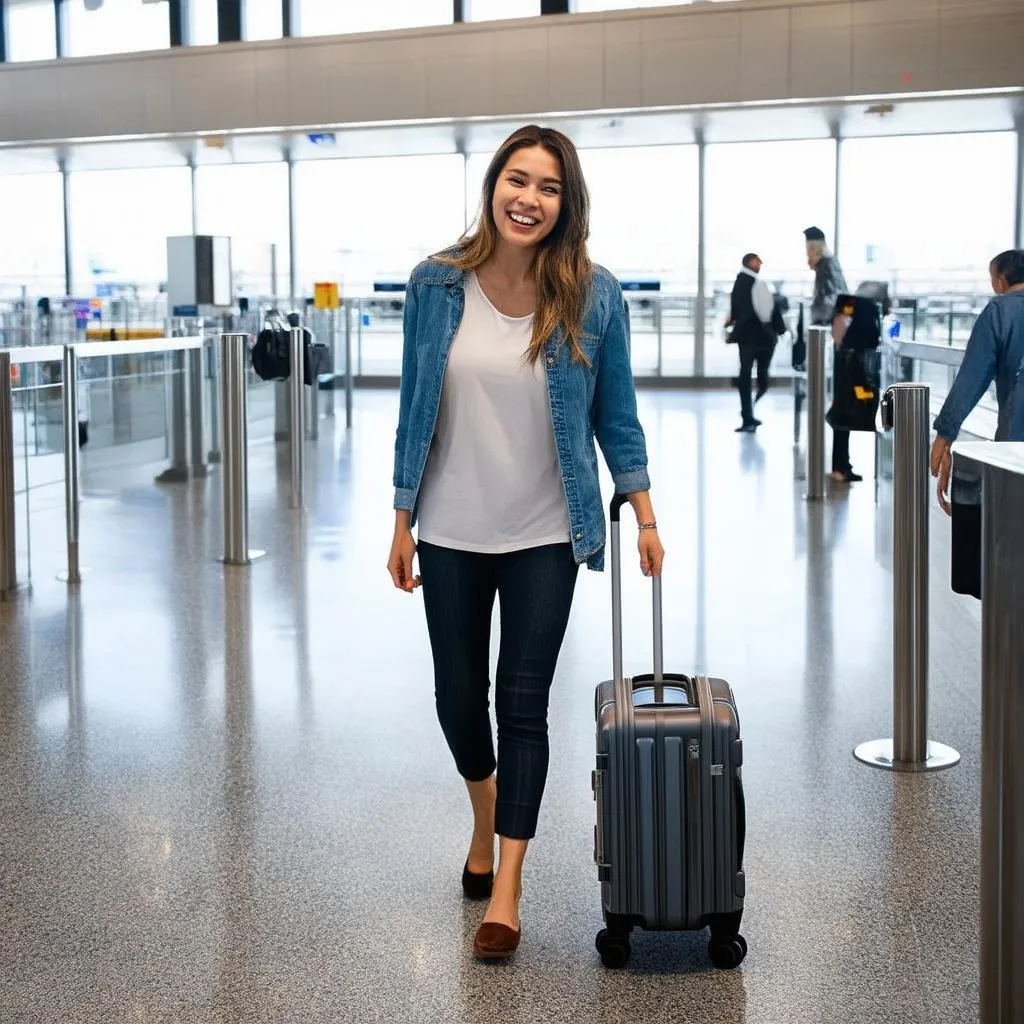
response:
[[[248,565],[264,552],[249,549],[248,336],[221,336],[220,412],[224,425],[223,515],[226,565]]]

